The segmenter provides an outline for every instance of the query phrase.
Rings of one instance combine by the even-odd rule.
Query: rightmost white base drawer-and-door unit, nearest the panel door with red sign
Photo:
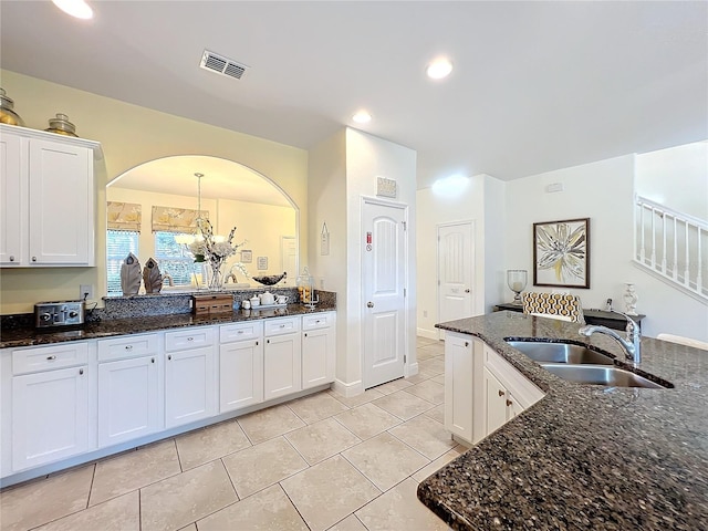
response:
[[[334,312],[302,317],[302,388],[334,382],[336,362]]]

